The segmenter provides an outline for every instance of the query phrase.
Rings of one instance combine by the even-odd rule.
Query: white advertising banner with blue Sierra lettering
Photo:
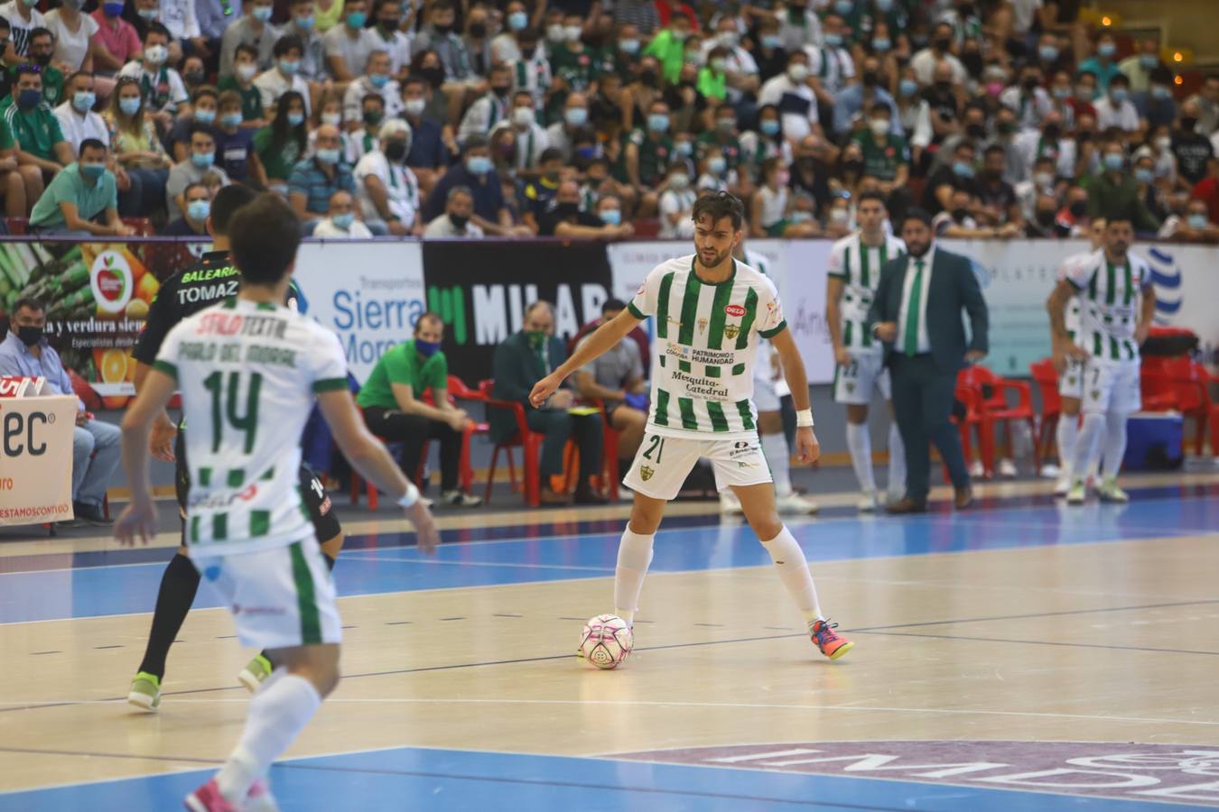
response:
[[[364,381],[377,359],[414,332],[425,309],[419,242],[307,242],[295,279],[307,315],[339,334]]]

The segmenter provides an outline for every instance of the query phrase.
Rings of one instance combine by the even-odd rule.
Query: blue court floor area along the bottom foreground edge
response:
[[[212,769],[0,794],[6,812],[180,808]],[[1181,803],[923,784],[880,778],[396,747],[295,758],[271,769],[284,810],[581,812],[1180,812]]]

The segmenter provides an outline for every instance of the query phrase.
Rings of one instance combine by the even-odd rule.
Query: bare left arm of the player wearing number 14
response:
[[[115,538],[123,544],[134,544],[137,536],[147,544],[156,536],[156,505],[149,488],[149,433],[152,420],[165,413],[165,404],[177,386],[171,375],[152,369],[123,415],[123,471],[132,489],[130,503],[115,522]]]

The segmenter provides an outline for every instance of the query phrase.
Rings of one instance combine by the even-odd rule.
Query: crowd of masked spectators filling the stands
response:
[[[327,237],[681,237],[727,189],[753,236],[841,236],[879,190],[946,236],[1134,205],[1219,239],[1219,75],[1186,95],[1163,43],[1079,5],[12,0],[0,191],[95,235],[202,236],[238,183]]]

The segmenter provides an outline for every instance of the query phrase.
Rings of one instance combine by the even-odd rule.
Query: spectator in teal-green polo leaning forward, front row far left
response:
[[[102,223],[96,218],[104,215]],[[34,203],[32,231],[128,236],[134,229],[118,218],[118,189],[106,169],[106,145],[88,138],[80,142],[80,159],[55,175]]]

